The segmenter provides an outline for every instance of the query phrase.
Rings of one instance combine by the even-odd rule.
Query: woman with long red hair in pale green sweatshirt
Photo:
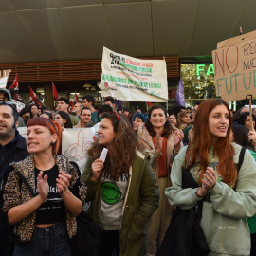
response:
[[[250,254],[246,218],[256,213],[256,164],[248,150],[230,142],[230,124],[225,101],[202,102],[192,141],[174,158],[172,187],[165,194],[179,214],[187,210],[187,216],[194,215],[194,224],[182,245],[186,254],[175,252],[175,244],[172,255]],[[173,217],[170,230],[175,220]],[[191,225],[192,219],[189,222]],[[174,239],[179,232],[176,230]]]

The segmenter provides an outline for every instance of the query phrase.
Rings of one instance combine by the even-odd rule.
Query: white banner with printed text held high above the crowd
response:
[[[101,97],[121,101],[168,101],[165,60],[140,60],[103,47]]]

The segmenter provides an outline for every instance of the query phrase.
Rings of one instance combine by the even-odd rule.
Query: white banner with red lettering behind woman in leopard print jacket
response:
[[[62,138],[62,155],[68,157],[69,161],[76,162],[81,173],[85,169],[88,159],[87,149],[98,137],[100,122],[91,128],[64,129]],[[27,127],[19,127],[21,136],[27,137]]]

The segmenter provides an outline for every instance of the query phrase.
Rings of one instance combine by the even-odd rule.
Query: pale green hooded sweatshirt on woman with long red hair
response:
[[[238,163],[241,146],[232,143],[235,154],[234,163]],[[181,209],[190,209],[199,198],[196,189],[182,189],[181,168],[185,162],[187,147],[180,150],[174,158],[171,172],[173,186],[165,191],[169,203]],[[209,165],[212,165],[213,148],[209,151]],[[218,163],[214,155],[214,163]],[[196,180],[199,162],[190,173]],[[203,202],[200,226],[210,247],[209,256],[248,256],[250,255],[250,234],[247,218],[256,213],[256,163],[246,150],[243,164],[238,172],[236,190],[222,182],[220,178],[209,191],[210,202]]]

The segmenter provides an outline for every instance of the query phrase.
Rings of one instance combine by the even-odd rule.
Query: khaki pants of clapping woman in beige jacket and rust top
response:
[[[160,192],[159,207],[155,210],[154,214],[145,225],[148,256],[155,256],[156,244],[160,247],[173,216],[173,207],[169,204],[164,193],[168,184],[168,179],[169,177],[158,178],[157,183]]]

